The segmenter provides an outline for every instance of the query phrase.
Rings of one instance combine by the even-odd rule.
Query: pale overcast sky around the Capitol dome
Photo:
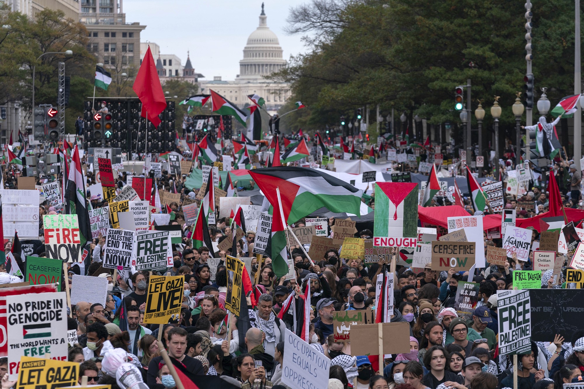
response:
[[[304,53],[299,35],[287,35],[288,10],[310,0],[265,1],[267,26],[276,33],[283,58]],[[140,41],[160,46],[161,54],[175,54],[185,65],[187,50],[195,71],[213,79],[235,79],[249,34],[259,25],[262,1],[242,0],[124,0],[126,22],[147,26]]]

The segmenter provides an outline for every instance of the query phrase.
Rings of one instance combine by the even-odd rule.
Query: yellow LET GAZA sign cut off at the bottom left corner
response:
[[[78,385],[79,363],[20,357],[16,389],[54,389]]]

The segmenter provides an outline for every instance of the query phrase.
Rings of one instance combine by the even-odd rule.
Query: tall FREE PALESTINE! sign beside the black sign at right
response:
[[[500,355],[522,354],[531,350],[529,293],[529,290],[497,291]]]

